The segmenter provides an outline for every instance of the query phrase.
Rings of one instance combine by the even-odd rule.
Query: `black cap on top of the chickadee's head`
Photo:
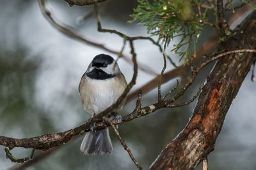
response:
[[[108,64],[111,64],[114,59],[110,55],[99,54],[96,55],[92,60],[93,67],[107,67]]]

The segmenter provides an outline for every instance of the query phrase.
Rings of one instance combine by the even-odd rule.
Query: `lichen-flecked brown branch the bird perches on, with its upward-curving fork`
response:
[[[136,66],[136,53],[134,53],[134,47],[132,45],[132,41],[130,41],[130,46],[131,46],[131,53],[134,59],[134,75],[132,77],[131,82],[125,89],[124,94],[122,94],[122,96],[119,97],[119,99],[116,101],[115,104],[113,104],[112,106],[109,106],[109,108],[107,108],[106,110],[102,111],[98,115],[95,115],[95,117],[90,118],[87,122],[85,122],[82,125],[79,125],[78,127],[75,127],[74,129],[70,129],[65,132],[43,134],[41,136],[36,136],[33,138],[24,138],[24,139],[15,139],[15,138],[9,138],[6,136],[0,136],[0,145],[8,147],[10,148],[10,150],[12,150],[12,148],[15,148],[15,147],[22,147],[22,148],[35,148],[37,150],[47,151],[49,150],[49,148],[53,148],[53,147],[60,146],[67,143],[74,136],[77,136],[79,134],[84,134],[84,132],[90,131],[90,126],[93,123],[99,122],[98,124],[95,125],[95,128],[94,128],[95,130],[108,127],[108,125],[101,122],[102,118],[106,117],[109,113],[112,113],[112,110],[115,110],[115,108],[118,108],[119,104],[124,102],[125,96],[127,95],[131,87],[136,82],[138,66]],[[128,122],[133,120],[134,118],[139,118],[141,116],[145,116],[150,113],[153,113],[154,111],[159,110],[161,108],[175,108],[175,107],[184,106],[184,105],[187,105],[188,103],[191,103],[192,101],[195,100],[196,96],[198,96],[199,92],[202,90],[202,87],[198,90],[198,93],[196,94],[196,96],[194,96],[191,100],[189,100],[188,103],[172,104],[174,101],[177,101],[177,99],[179,99],[179,97],[182,96],[182,94],[184,94],[186,89],[188,89],[189,85],[193,83],[196,75],[204,66],[206,66],[207,64],[209,64],[210,62],[216,59],[220,59],[221,57],[227,54],[238,53],[238,52],[256,53],[256,50],[248,50],[248,49],[233,50],[233,51],[221,53],[219,55],[216,55],[215,57],[212,57],[206,62],[203,62],[199,67],[195,69],[195,71],[193,71],[191,79],[184,85],[184,87],[182,87],[182,89],[180,89],[180,91],[175,96],[173,96],[170,99],[167,99],[166,101],[151,104],[150,106],[145,106],[144,108],[140,108],[139,110],[134,110],[132,113],[122,118],[122,121],[117,119],[113,120],[113,124],[116,125],[116,124],[120,124],[121,122]]]

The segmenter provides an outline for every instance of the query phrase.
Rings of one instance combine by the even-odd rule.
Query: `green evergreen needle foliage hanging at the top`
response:
[[[194,48],[196,52],[196,43],[205,25],[207,23],[207,9],[200,8],[202,1],[188,0],[154,0],[152,3],[148,0],[139,0],[139,5],[134,9],[133,18],[129,22],[138,20],[139,24],[147,26],[148,33],[151,36],[158,36],[158,41],[172,41],[179,37],[179,43],[173,45],[173,53],[180,55],[180,60],[184,58],[185,62],[191,59],[189,49]],[[199,8],[198,8],[199,7]]]

